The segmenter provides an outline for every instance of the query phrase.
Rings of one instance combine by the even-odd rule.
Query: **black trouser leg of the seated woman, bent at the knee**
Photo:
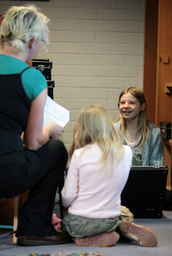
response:
[[[20,209],[16,236],[53,236],[55,193],[63,180],[68,152],[60,140],[49,140],[37,151],[26,150],[25,154],[30,167],[22,173],[19,191],[30,188],[30,192]]]

